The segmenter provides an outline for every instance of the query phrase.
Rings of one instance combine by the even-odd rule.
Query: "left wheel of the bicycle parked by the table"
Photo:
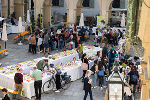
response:
[[[43,92],[47,94],[51,90],[53,90],[53,88],[54,88],[54,81],[49,80],[49,81],[44,83],[44,85],[43,85]]]

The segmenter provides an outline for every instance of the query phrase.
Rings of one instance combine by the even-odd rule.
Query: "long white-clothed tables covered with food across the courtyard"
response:
[[[93,51],[92,53],[96,54]],[[31,70],[42,59],[45,58],[41,57],[31,61],[25,61],[7,67],[0,67],[0,86],[15,90],[14,75],[17,72],[17,68],[22,68],[24,74],[23,75],[24,76],[23,87],[25,94],[24,96],[31,99],[31,97],[35,96],[34,81],[30,77]],[[79,60],[79,55],[75,50],[50,55],[48,59],[49,64],[53,63],[56,67],[60,67],[63,73],[67,72],[68,75],[71,75],[71,81],[75,81],[82,77],[83,73],[81,70],[82,62],[81,60]],[[91,66],[94,64],[94,61],[90,60],[89,62],[90,62],[89,66],[91,68]],[[50,79],[50,77],[51,75],[43,73],[42,83],[44,84],[46,81]]]

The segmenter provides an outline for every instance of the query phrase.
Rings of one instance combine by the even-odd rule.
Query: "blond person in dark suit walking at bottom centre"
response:
[[[83,89],[85,91],[85,95],[84,95],[84,99],[83,100],[86,100],[86,98],[88,96],[88,93],[90,94],[90,100],[93,100],[92,90],[91,90],[92,80],[90,79],[91,73],[92,72],[90,70],[87,70],[87,76],[84,79],[84,87],[83,87]]]

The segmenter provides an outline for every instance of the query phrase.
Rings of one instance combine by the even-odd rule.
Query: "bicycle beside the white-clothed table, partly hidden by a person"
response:
[[[67,73],[60,75],[60,82],[61,82],[61,89],[63,90],[68,89],[71,85],[71,76],[67,75]],[[43,92],[47,94],[50,91],[52,91],[54,87],[55,87],[55,77],[54,75],[52,75],[52,78],[44,83]]]

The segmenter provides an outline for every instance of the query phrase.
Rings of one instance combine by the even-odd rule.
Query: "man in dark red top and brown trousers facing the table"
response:
[[[14,81],[15,81],[15,91],[18,92],[16,95],[16,99],[21,100],[21,91],[23,88],[23,75],[22,75],[22,69],[18,68],[17,73],[14,76]]]

